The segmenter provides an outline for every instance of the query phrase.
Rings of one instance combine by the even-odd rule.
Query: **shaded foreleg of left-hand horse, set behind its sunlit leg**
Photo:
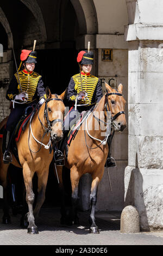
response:
[[[46,191],[46,185],[47,185],[47,179],[48,179],[48,170],[45,170],[44,172],[41,172],[41,173],[37,173],[37,177],[38,177],[38,195],[37,195],[36,206],[34,209],[35,217],[39,215],[41,206],[45,201],[45,191]]]

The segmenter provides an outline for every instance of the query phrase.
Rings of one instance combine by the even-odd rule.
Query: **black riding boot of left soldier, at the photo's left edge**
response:
[[[3,162],[12,162],[12,155],[9,151],[10,131],[5,131],[3,134]]]

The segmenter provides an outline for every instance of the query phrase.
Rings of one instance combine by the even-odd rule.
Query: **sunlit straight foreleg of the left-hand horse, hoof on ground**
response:
[[[28,204],[28,214],[27,214],[27,219],[28,219],[28,234],[38,234],[38,228],[35,225],[35,219],[33,215],[33,203],[34,203],[34,192],[33,192],[33,187],[32,187],[32,179],[33,179],[33,174],[29,169],[29,166],[26,163],[23,164],[23,177],[24,177],[24,184],[26,186],[26,202]]]

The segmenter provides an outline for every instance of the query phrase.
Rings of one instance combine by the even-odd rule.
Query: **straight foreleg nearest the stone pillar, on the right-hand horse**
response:
[[[99,181],[102,179],[102,176],[92,175],[92,185],[91,185],[91,194],[90,194],[90,217],[89,222],[91,224],[90,233],[99,234],[98,227],[95,223],[95,207],[97,202],[97,191]]]

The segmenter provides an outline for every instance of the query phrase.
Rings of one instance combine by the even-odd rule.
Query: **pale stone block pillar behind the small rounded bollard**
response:
[[[152,23],[152,17],[162,19],[162,3],[157,2],[160,9],[158,4],[153,8],[154,1],[127,1],[129,21],[135,6],[136,23],[126,27],[129,136],[124,200],[139,211],[140,228],[146,231],[163,229],[163,27]]]

